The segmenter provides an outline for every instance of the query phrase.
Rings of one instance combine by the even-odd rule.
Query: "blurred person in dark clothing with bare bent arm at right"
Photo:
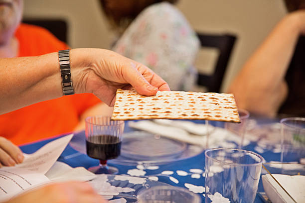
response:
[[[229,88],[239,108],[269,117],[305,116],[305,2],[289,11]]]

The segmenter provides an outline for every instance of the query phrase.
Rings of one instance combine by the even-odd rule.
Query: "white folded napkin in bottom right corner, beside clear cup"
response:
[[[305,176],[272,174],[297,203],[305,200]],[[262,176],[264,190],[273,203],[293,203],[279,184],[269,175]]]

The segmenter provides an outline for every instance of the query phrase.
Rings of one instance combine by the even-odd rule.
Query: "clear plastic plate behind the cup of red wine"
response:
[[[69,145],[86,154],[85,132],[75,133]],[[109,163],[136,166],[141,164],[166,164],[188,159],[202,153],[204,149],[197,145],[187,144],[170,138],[144,131],[124,133],[121,155]]]

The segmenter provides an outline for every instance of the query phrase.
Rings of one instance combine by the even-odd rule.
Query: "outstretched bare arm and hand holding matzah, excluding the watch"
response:
[[[62,96],[57,53],[0,59],[0,113]],[[118,88],[133,86],[155,95],[168,85],[146,66],[104,49],[72,49],[71,78],[75,93],[93,93],[113,105]]]

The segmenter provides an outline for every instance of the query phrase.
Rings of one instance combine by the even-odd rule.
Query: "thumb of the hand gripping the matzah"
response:
[[[152,86],[144,76],[138,71],[136,66],[143,66],[140,63],[132,63],[132,68],[128,69],[125,80],[131,84],[136,91],[145,96],[153,96],[157,93],[158,88]],[[145,67],[146,68],[146,67]],[[147,68],[146,68],[147,69]],[[153,73],[152,73],[153,74]]]

